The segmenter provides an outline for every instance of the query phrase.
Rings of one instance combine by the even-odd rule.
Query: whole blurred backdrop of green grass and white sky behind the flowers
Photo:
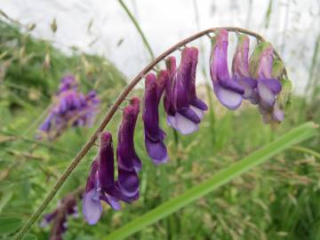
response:
[[[0,1],[0,239],[7,239],[36,210],[119,92],[152,55],[205,28],[249,28],[270,41],[293,84],[292,104],[276,130],[263,124],[257,108],[227,111],[215,100],[209,71],[210,40],[200,48],[199,96],[210,103],[200,131],[175,139],[166,126],[168,164],[156,168],[138,122],[136,148],[143,162],[141,196],[114,212],[105,206],[99,224],[68,218],[63,239],[103,239],[136,216],[177,196],[294,126],[320,119],[320,1],[294,0],[72,0]],[[137,20],[134,25],[125,7]],[[150,45],[142,41],[137,26]],[[230,35],[229,66],[236,36]],[[252,46],[254,40],[252,40]],[[175,52],[178,57],[180,52]],[[205,70],[203,70],[205,69]],[[100,112],[92,127],[70,127],[54,140],[39,140],[57,97],[60,79],[75,76],[79,91],[94,90]],[[143,84],[132,95],[142,96]],[[164,116],[164,111],[161,109]],[[108,125],[114,132],[121,113]],[[129,239],[320,239],[319,134],[274,157],[228,186],[145,228]],[[116,139],[116,138],[115,138]],[[66,182],[58,199],[83,186],[94,148]],[[44,226],[43,226],[44,227]],[[49,239],[53,224],[32,229],[30,239]],[[51,238],[57,239],[57,238]]]

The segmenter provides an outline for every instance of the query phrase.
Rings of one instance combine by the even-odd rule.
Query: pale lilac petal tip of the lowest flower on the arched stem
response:
[[[102,214],[102,206],[100,204],[100,192],[94,188],[84,194],[83,199],[83,212],[85,220],[94,225],[100,220]]]

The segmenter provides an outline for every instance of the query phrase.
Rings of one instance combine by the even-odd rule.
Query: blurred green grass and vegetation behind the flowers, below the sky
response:
[[[0,239],[12,236],[35,212],[125,84],[122,73],[108,60],[76,49],[66,56],[51,43],[32,38],[29,31],[21,33],[0,21]],[[315,51],[313,64],[318,66],[318,47]],[[103,239],[239,160],[250,158],[252,152],[279,140],[294,127],[307,121],[320,124],[316,92],[320,76],[315,69],[310,70],[309,90],[314,91],[308,94],[308,101],[307,96],[292,96],[284,123],[275,131],[262,123],[257,108],[226,111],[212,98],[212,92],[206,94],[211,106],[199,132],[180,137],[178,144],[161,117],[171,160],[158,167],[148,159],[143,126],[138,121],[135,142],[143,163],[140,200],[123,204],[120,212],[105,205],[96,226],[87,225],[82,214],[79,219],[69,218],[64,239]],[[58,140],[37,141],[36,129],[44,120],[60,77],[67,73],[76,76],[84,92],[94,89],[99,93],[100,115],[90,129],[70,128]],[[142,96],[139,89],[132,94]],[[163,109],[161,112],[164,116]],[[120,116],[118,112],[107,127],[114,136]],[[267,163],[128,239],[320,239],[319,129],[312,134],[315,137],[281,153],[279,148]],[[51,212],[58,199],[84,185],[96,153],[94,148],[85,156],[45,212]],[[81,209],[80,202],[78,205]],[[49,235],[50,227],[36,225],[25,239],[48,239]]]

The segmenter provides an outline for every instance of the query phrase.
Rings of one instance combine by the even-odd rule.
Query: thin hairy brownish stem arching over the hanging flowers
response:
[[[36,212],[29,218],[27,223],[20,229],[20,231],[17,233],[16,236],[14,236],[15,240],[22,239],[23,236],[25,236],[28,233],[29,228],[32,227],[32,225],[36,222],[36,220],[40,217],[42,212],[44,212],[44,209],[47,207],[48,204],[52,201],[52,198],[57,194],[58,190],[61,188],[63,183],[68,179],[68,176],[73,172],[76,168],[76,166],[81,162],[81,160],[84,158],[84,156],[87,154],[87,152],[92,148],[94,145],[95,141],[98,139],[100,133],[105,129],[107,126],[108,122],[111,120],[112,116],[115,115],[116,110],[119,108],[121,103],[124,101],[124,99],[127,97],[127,95],[132,91],[134,86],[140,82],[140,80],[148,74],[150,70],[156,67],[156,65],[161,61],[164,60],[165,57],[169,56],[172,52],[175,52],[176,50],[180,49],[180,47],[196,40],[197,38],[201,36],[208,35],[210,33],[214,33],[216,30],[222,29],[222,28],[209,28],[204,31],[198,32],[197,34],[193,36],[189,36],[188,38],[180,41],[178,44],[173,45],[170,49],[167,51],[163,52],[161,55],[159,55],[155,60],[153,60],[146,68],[143,68],[140,73],[135,76],[132,79],[132,82],[128,84],[125,88],[124,91],[121,92],[119,97],[117,98],[116,102],[112,105],[112,107],[109,109],[108,114],[105,116],[103,119],[102,123],[98,127],[98,129],[93,132],[92,137],[84,144],[84,147],[78,152],[76,157],[72,160],[71,164],[69,164],[68,168],[65,170],[65,172],[62,173],[60,176],[60,179],[57,180],[56,184],[53,186],[52,190],[48,193],[48,195],[44,198],[44,201]],[[241,32],[249,36],[254,36],[261,42],[266,42],[266,40],[250,31],[244,28],[235,28],[235,27],[226,27],[224,29],[227,29],[230,32]],[[280,59],[279,54],[275,51],[276,56]],[[284,69],[284,75],[286,75],[286,71]]]

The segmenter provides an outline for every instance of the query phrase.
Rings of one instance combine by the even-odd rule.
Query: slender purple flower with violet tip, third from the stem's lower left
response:
[[[167,149],[164,145],[164,131],[159,127],[159,100],[163,92],[164,83],[169,75],[166,71],[160,72],[158,81],[156,75],[148,74],[146,76],[146,87],[144,95],[144,108],[142,120],[144,122],[145,145],[148,156],[151,157],[154,164],[164,164],[168,161]]]

